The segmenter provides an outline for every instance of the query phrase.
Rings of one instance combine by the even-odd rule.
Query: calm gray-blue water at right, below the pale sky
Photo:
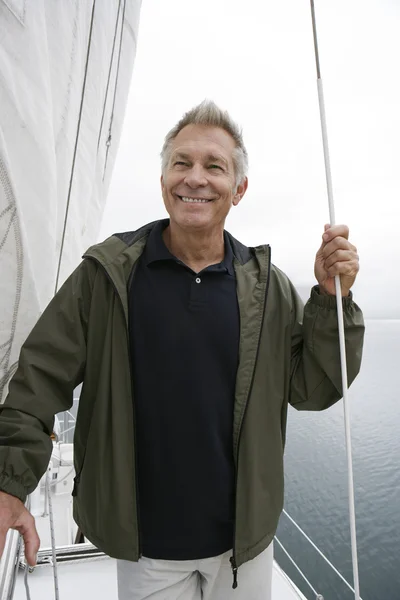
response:
[[[349,391],[363,600],[400,600],[399,381],[400,321],[367,321]],[[291,410],[287,439],[285,508],[352,583],[342,402],[322,413]],[[284,515],[278,537],[325,600],[354,598]],[[280,548],[275,557],[314,600]]]

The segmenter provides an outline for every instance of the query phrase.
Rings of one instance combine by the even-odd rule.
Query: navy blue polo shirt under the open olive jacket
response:
[[[141,552],[193,560],[234,536],[239,308],[233,253],[193,272],[151,231],[129,290]]]

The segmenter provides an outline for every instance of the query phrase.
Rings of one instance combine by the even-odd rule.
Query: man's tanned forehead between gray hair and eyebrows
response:
[[[173,140],[171,150],[173,154],[179,152],[214,154],[229,160],[232,159],[235,147],[233,137],[220,127],[187,125]]]

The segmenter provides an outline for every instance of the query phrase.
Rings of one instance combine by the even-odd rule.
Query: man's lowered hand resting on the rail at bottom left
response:
[[[0,558],[4,552],[9,529],[16,529],[24,538],[25,558],[28,565],[34,567],[40,547],[35,519],[19,498],[0,492]]]

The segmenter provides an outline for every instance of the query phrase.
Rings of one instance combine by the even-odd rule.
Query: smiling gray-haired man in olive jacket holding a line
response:
[[[170,219],[89,249],[28,337],[0,416],[0,530],[23,534],[30,564],[39,540],[22,501],[83,381],[74,516],[118,559],[120,600],[271,597],[288,403],[322,410],[342,395],[335,275],[349,382],[364,327],[347,227],[325,226],[304,316],[269,247],[224,230],[246,170],[229,115],[211,102],[187,113],[162,151]]]

